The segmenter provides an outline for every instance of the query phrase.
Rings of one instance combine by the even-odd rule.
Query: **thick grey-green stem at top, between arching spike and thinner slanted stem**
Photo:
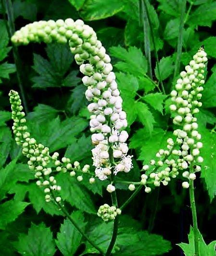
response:
[[[148,63],[148,76],[152,79],[152,59],[149,38],[149,21],[143,0],[140,0],[140,25],[142,26],[144,33],[144,50]]]

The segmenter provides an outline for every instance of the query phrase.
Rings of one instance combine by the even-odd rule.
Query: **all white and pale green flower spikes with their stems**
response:
[[[200,99],[207,63],[203,48],[198,50],[190,64],[185,67],[185,71],[180,73],[181,78],[177,80],[175,90],[171,92],[170,110],[176,127],[173,137],[167,139],[166,148],[155,152],[155,158],[143,165],[140,170],[140,182],[133,182],[116,181],[119,172],[127,175],[133,169],[133,156],[128,155],[127,114],[122,109],[123,99],[117,88],[111,59],[101,41],[97,40],[96,33],[82,20],[66,19],[28,24],[12,37],[12,42],[17,45],[26,45],[31,41],[69,43],[76,63],[85,75],[82,81],[87,87],[85,95],[90,102],[88,110],[91,113],[89,126],[94,145],[91,150],[94,173],[87,164],[80,166],[79,162],[72,163],[69,158],[59,159],[58,152],[50,155],[49,148],[38,143],[28,132],[19,94],[15,91],[9,94],[16,143],[23,148],[29,168],[35,171],[36,184],[44,190],[46,202],[55,203],[84,238],[100,254],[108,256],[111,255],[116,241],[118,216],[122,214],[125,206],[142,188],[149,193],[154,187],[167,186],[171,178],[182,175],[185,179],[182,187],[190,190],[195,255],[200,256],[193,180],[196,178],[195,173],[201,170],[200,163],[203,162],[200,155],[200,148],[203,147],[202,136],[198,132],[196,118],[202,106]],[[95,179],[109,181],[106,190],[111,194],[113,205],[104,204],[98,210],[98,216],[102,217],[103,221],[114,221],[113,235],[106,251],[102,251],[68,214],[60,196],[61,187],[55,179],[58,172],[69,172],[71,176],[76,176],[79,182],[83,180],[84,175],[88,175],[92,186]],[[128,184],[128,189],[133,191],[123,205],[118,205],[115,192],[118,182]]]

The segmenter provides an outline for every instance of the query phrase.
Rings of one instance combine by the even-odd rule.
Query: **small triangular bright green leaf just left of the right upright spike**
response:
[[[143,100],[149,105],[154,108],[155,110],[158,110],[159,112],[163,112],[163,103],[167,96],[162,93],[154,93],[154,94],[146,94],[143,97]]]

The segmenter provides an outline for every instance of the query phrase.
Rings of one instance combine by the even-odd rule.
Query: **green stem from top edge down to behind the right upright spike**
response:
[[[184,29],[184,15],[185,15],[185,8],[186,8],[186,0],[182,0],[181,2],[182,2],[182,4],[181,4],[179,34],[178,34],[177,55],[176,55],[176,63],[175,63],[174,76],[173,76],[174,81],[176,79],[177,74],[179,73],[179,68],[180,68],[182,41],[183,41],[183,29]]]

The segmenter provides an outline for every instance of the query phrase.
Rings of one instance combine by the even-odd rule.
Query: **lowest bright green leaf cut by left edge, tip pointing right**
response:
[[[14,221],[28,205],[28,202],[10,200],[0,204],[0,229],[5,229],[7,224]]]

